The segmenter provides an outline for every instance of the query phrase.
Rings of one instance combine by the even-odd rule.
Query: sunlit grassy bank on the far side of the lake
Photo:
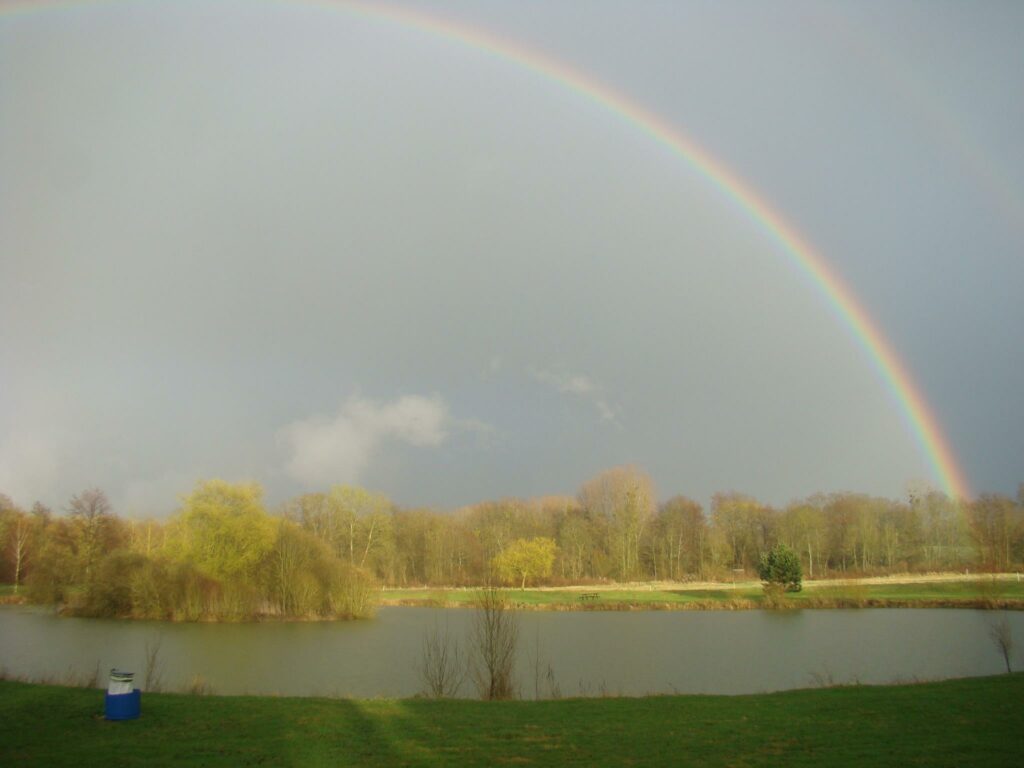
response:
[[[596,594],[584,599],[585,594]],[[684,585],[665,588],[571,588],[509,590],[516,607],[538,610],[736,610],[764,607],[764,590],[758,584],[718,585],[692,589]],[[476,599],[473,589],[389,589],[383,605],[461,607]],[[796,608],[936,607],[1024,609],[1024,583],[989,579],[962,582],[868,584],[848,582],[805,584],[803,591],[785,595]]]

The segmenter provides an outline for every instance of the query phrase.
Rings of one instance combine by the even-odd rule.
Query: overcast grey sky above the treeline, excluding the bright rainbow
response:
[[[975,492],[1024,481],[1024,4],[419,4],[706,148],[817,247]],[[3,3],[0,3],[3,8]],[[763,229],[635,125],[300,2],[0,11],[0,492],[275,503],[938,484]]]

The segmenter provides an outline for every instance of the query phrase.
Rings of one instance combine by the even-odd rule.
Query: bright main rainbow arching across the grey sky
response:
[[[486,30],[451,18],[408,7],[353,0],[267,0],[267,2],[339,10],[435,35],[532,71],[647,134],[723,194],[756,227],[775,243],[790,264],[818,289],[833,314],[866,352],[876,372],[897,402],[907,427],[927,457],[944,493],[952,499],[970,498],[970,486],[964,472],[924,392],[896,355],[892,345],[871,322],[853,292],[844,285],[835,271],[828,268],[825,260],[814,248],[750,184],[677,128],[622,93],[577,72],[562,61],[500,38]],[[0,13],[100,4],[106,3],[101,0],[14,2],[0,4]]]

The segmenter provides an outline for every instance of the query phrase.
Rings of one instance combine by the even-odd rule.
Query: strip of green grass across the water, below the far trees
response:
[[[595,587],[596,600],[581,600],[579,590],[508,590],[509,599],[524,607],[565,607],[565,608],[611,608],[620,606],[643,607],[686,607],[710,606],[716,604],[737,605],[743,602],[759,604],[764,598],[761,587],[737,587],[735,589],[637,589],[602,590]],[[472,589],[430,590],[430,589],[389,589],[383,594],[385,602],[407,602],[434,605],[471,605],[476,599]],[[815,600],[852,601],[893,601],[929,603],[971,603],[983,599],[1024,600],[1024,583],[1013,581],[992,582],[979,580],[972,582],[931,582],[919,584],[850,584],[818,587],[813,583],[805,585],[799,593],[786,595],[796,604]]]

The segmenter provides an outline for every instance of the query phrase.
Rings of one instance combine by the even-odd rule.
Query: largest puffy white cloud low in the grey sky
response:
[[[350,397],[334,418],[312,417],[282,430],[291,455],[285,469],[306,485],[356,482],[384,442],[440,445],[449,422],[447,406],[437,396],[391,402]]]

